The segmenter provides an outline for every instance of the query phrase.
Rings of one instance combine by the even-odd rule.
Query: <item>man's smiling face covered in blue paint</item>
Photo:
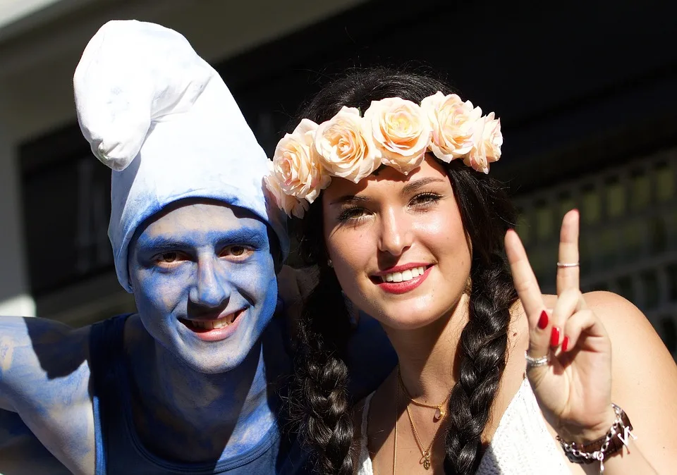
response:
[[[277,301],[265,223],[226,204],[187,203],[137,233],[129,273],[148,333],[195,371],[238,366]]]

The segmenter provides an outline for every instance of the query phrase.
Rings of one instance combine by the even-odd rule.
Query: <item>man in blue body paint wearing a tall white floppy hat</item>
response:
[[[279,428],[288,237],[228,88],[183,36],[136,21],[94,35],[74,88],[80,128],[113,169],[109,237],[138,314],[77,330],[1,317],[0,409],[75,474],[301,473]],[[21,426],[0,417],[0,434],[10,420]],[[44,462],[11,473],[61,473],[31,450]]]

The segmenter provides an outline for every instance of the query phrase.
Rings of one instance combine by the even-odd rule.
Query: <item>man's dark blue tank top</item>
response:
[[[306,473],[305,451],[277,426],[252,450],[210,463],[171,462],[147,450],[134,428],[129,376],[123,361],[123,329],[128,316],[95,323],[90,335],[96,475]]]

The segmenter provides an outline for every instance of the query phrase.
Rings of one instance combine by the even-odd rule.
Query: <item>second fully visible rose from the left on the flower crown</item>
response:
[[[354,107],[343,107],[315,130],[315,152],[329,175],[358,183],[381,165],[365,119]]]

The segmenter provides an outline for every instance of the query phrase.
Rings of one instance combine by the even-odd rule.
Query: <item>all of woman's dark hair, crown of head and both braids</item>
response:
[[[385,97],[420,104],[437,91],[453,92],[444,82],[420,73],[356,70],[324,87],[300,117],[322,123],[341,106],[365,111],[372,100]],[[449,397],[444,469],[448,474],[465,475],[480,463],[482,431],[506,366],[510,308],[517,295],[503,248],[506,230],[515,222],[513,206],[501,183],[459,162],[444,166],[472,244],[471,288],[469,320],[458,345],[459,374]],[[345,354],[350,322],[336,274],[327,263],[322,224],[320,195],[300,223],[300,252],[318,266],[319,283],[300,321],[291,416],[319,473],[351,475],[353,423]]]

